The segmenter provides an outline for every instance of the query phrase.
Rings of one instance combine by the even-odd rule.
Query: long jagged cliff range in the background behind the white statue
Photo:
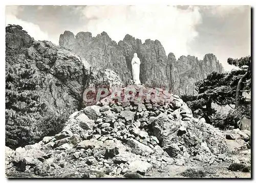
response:
[[[60,35],[60,46],[70,48],[96,69],[114,70],[124,84],[132,79],[131,61],[134,53],[140,58],[140,81],[145,86],[169,88],[178,95],[197,94],[195,82],[213,71],[223,70],[213,54],[206,54],[203,60],[188,55],[181,56],[177,61],[173,53],[167,57],[158,40],[147,39],[142,44],[140,39],[127,34],[116,44],[105,32],[96,37],[89,32],[80,32],[75,38],[70,35],[73,34],[67,31]]]

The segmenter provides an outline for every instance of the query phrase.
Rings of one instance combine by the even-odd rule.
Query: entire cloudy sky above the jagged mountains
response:
[[[105,31],[116,42],[130,34],[158,39],[176,59],[207,53],[226,70],[227,58],[251,55],[249,6],[7,6],[6,24],[19,24],[36,40],[58,44],[66,30]]]

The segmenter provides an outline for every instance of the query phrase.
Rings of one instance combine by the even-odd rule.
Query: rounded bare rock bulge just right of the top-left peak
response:
[[[44,82],[41,101],[54,112],[68,114],[79,109],[86,83],[86,71],[82,59],[51,42],[34,42],[28,48],[28,58],[35,62],[37,73]]]

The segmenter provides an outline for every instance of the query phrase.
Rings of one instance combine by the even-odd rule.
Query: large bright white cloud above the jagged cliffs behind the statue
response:
[[[126,34],[142,41],[158,39],[166,55],[173,52],[176,58],[188,54],[187,43],[198,36],[196,25],[201,22],[198,7],[87,6],[83,14],[91,19],[83,31],[94,36],[105,31],[117,42]]]

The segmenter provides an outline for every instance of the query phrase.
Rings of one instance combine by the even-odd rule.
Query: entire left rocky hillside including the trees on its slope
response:
[[[68,34],[71,33],[65,33]],[[71,39],[68,39],[69,43],[70,41]],[[28,143],[24,140],[25,137],[20,137],[20,141],[15,137],[17,129],[13,126],[21,125],[19,117],[25,120],[22,125],[28,125],[30,129],[34,126],[36,128],[34,123],[36,121],[40,123],[39,121],[47,116],[50,119],[54,119],[55,116],[68,117],[85,106],[83,91],[95,84],[107,88],[122,85],[120,78],[112,70],[93,72],[85,59],[67,48],[59,47],[49,41],[35,41],[19,25],[8,25],[6,27],[7,145],[14,148],[17,144]],[[35,121],[30,113],[34,115]],[[20,136],[24,136],[22,133],[25,132],[21,132]],[[31,134],[33,133],[27,132],[27,135]],[[16,144],[13,141],[16,141]]]

